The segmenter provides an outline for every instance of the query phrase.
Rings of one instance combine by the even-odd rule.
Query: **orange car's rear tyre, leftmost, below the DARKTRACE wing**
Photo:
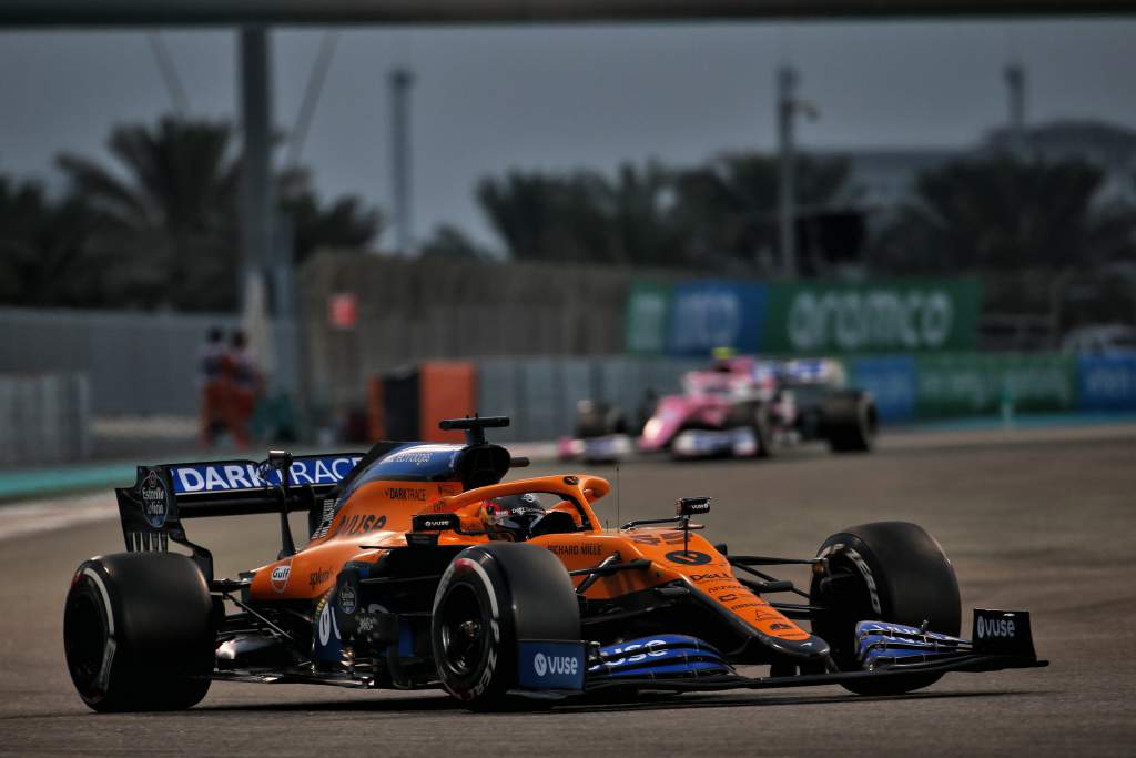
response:
[[[197,705],[209,691],[216,650],[204,576],[169,552],[83,563],[67,592],[64,650],[75,689],[94,710]]]

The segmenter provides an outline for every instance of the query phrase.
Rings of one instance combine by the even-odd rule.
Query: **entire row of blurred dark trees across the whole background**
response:
[[[232,310],[241,157],[224,122],[173,117],[112,130],[109,161],[61,155],[61,194],[0,176],[0,302]],[[426,258],[554,260],[771,274],[779,264],[775,155],[703,165],[510,170],[475,195],[503,250],[443,225]],[[1072,159],[986,149],[921,174],[897,208],[867,208],[861,252],[877,275],[1068,272],[1134,260],[1136,210],[1100,201],[1105,176]],[[1134,178],[1136,181],[1136,178]],[[796,159],[797,209],[860,208],[847,160]],[[325,201],[303,168],[276,177],[298,263],[362,250],[383,217],[354,197]]]

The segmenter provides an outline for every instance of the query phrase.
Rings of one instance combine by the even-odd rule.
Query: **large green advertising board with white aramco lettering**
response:
[[[978,280],[771,284],[761,349],[774,353],[972,350]]]

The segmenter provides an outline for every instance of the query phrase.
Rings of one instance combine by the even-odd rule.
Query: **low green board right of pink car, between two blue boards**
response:
[[[919,356],[916,411],[919,416],[970,416],[1068,410],[1076,405],[1075,359],[1060,353],[970,353]]]

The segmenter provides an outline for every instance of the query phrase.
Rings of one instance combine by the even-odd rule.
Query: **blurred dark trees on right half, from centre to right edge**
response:
[[[482,180],[477,201],[513,260],[569,260],[769,274],[777,265],[777,157],[733,153],[670,169],[513,170]],[[1100,168],[983,151],[928,170],[899,208],[867,208],[861,252],[879,275],[1068,269],[1133,260],[1136,210],[1102,205]],[[1136,178],[1134,178],[1136,181]],[[802,156],[802,214],[859,207],[849,164]],[[491,257],[453,227],[428,256]]]

